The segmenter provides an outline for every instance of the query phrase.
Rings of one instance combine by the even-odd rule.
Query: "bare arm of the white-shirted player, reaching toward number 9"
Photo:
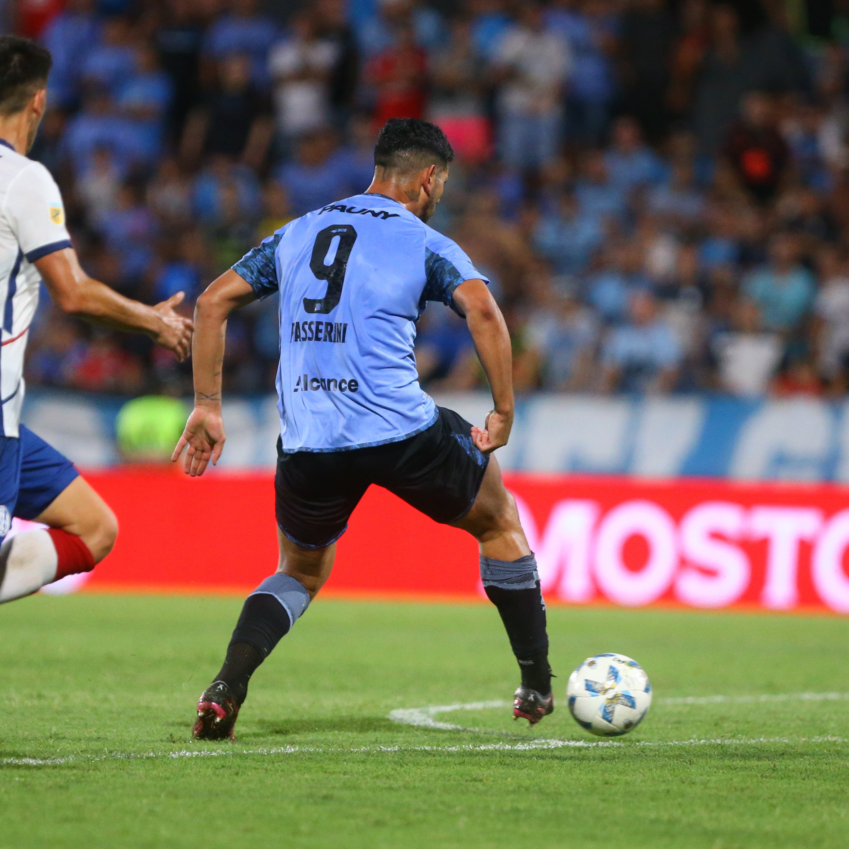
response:
[[[182,363],[192,341],[192,320],[174,312],[183,301],[183,292],[156,306],[131,301],[80,267],[76,250],[63,248],[36,260],[35,266],[59,309],[87,321],[104,324],[127,333],[144,333],[157,345],[177,354]]]

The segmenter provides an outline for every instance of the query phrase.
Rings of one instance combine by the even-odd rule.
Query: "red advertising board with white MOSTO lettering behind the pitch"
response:
[[[274,571],[273,477],[87,475],[118,515],[95,589],[244,592]],[[849,613],[849,489],[509,475],[549,602]],[[372,487],[328,593],[480,598],[477,551]]]

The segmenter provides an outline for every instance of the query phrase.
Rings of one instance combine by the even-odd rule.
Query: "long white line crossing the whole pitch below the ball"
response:
[[[533,739],[526,743],[484,743],[481,745],[364,745],[355,746],[350,749],[329,746],[320,748],[316,746],[287,745],[278,746],[273,749],[183,749],[181,751],[166,752],[114,752],[110,755],[85,756],[68,755],[65,757],[4,757],[0,758],[2,767],[56,767],[65,763],[96,763],[102,761],[149,761],[149,760],[177,760],[180,758],[196,757],[223,757],[239,755],[297,755],[297,754],[360,754],[360,753],[391,753],[405,751],[447,751],[447,752],[474,752],[474,751],[533,751],[537,749],[610,749],[610,748],[661,748],[666,746],[702,746],[702,745],[759,745],[763,743],[849,743],[845,737],[835,737],[830,734],[818,737],[754,737],[754,738],[722,738],[687,740],[637,740],[633,743],[620,743],[617,740],[561,740],[561,739]]]

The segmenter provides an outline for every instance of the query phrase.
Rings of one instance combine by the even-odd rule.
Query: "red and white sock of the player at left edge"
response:
[[[0,604],[93,568],[92,553],[76,534],[58,528],[15,534],[0,545]]]

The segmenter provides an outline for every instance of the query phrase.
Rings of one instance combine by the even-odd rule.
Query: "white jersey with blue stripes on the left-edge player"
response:
[[[24,351],[41,277],[33,264],[70,248],[62,196],[50,172],[0,139],[0,436],[18,436]]]

